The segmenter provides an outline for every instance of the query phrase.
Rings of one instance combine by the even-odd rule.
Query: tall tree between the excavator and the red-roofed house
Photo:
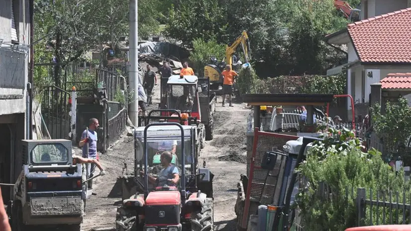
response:
[[[322,41],[324,34],[344,28],[347,20],[336,14],[333,0],[300,0],[290,23],[288,50],[293,57],[293,74],[324,74],[336,60],[327,60],[335,52]]]

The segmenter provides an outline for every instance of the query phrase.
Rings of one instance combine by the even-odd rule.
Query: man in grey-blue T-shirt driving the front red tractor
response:
[[[177,186],[177,183],[180,180],[179,170],[176,166],[171,164],[171,160],[173,159],[173,154],[169,151],[165,151],[161,153],[160,161],[161,165],[164,167],[161,172],[158,174],[158,178],[153,176],[148,176],[148,180],[150,183],[155,184],[157,186],[163,185],[172,185]],[[140,171],[140,174],[144,175],[143,171]]]

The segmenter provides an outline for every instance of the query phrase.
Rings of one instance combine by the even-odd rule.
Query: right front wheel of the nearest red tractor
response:
[[[214,208],[211,198],[206,199],[201,211],[191,215],[192,231],[213,231],[214,230]]]

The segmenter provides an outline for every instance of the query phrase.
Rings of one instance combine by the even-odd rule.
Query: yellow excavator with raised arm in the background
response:
[[[211,57],[211,63],[204,67],[204,77],[209,79],[210,82],[210,92],[215,92],[216,95],[222,94],[222,84],[224,82],[224,77],[222,76],[221,72],[224,71],[225,65],[230,65],[232,70],[236,70],[237,68],[233,68],[233,66],[241,66],[237,63],[233,63],[233,55],[237,49],[237,47],[241,45],[242,51],[244,53],[245,63],[243,66],[249,65],[249,59],[251,56],[250,52],[250,44],[248,40],[248,34],[244,30],[240,36],[235,39],[235,41],[225,48],[225,59],[222,62],[218,62],[215,57]],[[234,86],[234,95],[237,95],[238,89]]]

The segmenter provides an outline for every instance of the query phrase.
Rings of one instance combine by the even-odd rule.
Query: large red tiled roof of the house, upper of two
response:
[[[411,63],[411,8],[347,27],[361,62]]]

